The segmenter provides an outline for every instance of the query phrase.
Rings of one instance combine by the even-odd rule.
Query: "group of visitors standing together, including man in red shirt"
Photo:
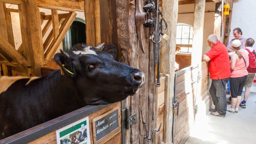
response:
[[[215,108],[211,108],[209,111],[213,116],[225,117],[227,111],[238,112],[239,105],[246,108],[245,103],[255,78],[255,73],[249,66],[251,60],[255,62],[255,57],[249,61],[249,56],[253,54],[251,52],[255,52],[252,48],[255,41],[252,38],[245,39],[242,35],[241,29],[235,28],[233,30],[235,38],[229,42],[227,47],[214,34],[207,39],[211,49],[203,55],[203,60],[209,61],[209,72],[212,79],[209,93],[215,105]],[[228,99],[226,94],[229,93],[225,92],[227,83],[228,92],[230,90]],[[244,87],[244,100],[241,101]],[[227,103],[230,103],[231,107],[227,107]]]

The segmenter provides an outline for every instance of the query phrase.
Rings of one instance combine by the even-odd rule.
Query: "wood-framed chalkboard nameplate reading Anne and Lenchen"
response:
[[[115,107],[92,120],[93,141],[95,144],[106,139],[109,135],[116,132],[121,127],[119,117],[120,108]]]

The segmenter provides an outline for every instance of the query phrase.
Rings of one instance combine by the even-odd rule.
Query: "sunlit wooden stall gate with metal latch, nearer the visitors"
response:
[[[175,72],[172,143],[182,144],[189,136],[196,113],[198,65]]]

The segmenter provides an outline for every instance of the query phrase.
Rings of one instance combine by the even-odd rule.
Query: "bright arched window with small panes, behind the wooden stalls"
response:
[[[176,45],[180,46],[179,53],[192,52],[193,27],[188,24],[177,24]]]

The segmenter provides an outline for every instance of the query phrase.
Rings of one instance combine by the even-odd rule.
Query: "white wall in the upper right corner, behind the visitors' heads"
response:
[[[234,38],[232,32],[237,27],[241,28],[243,37],[256,40],[256,0],[233,1],[229,41]]]

